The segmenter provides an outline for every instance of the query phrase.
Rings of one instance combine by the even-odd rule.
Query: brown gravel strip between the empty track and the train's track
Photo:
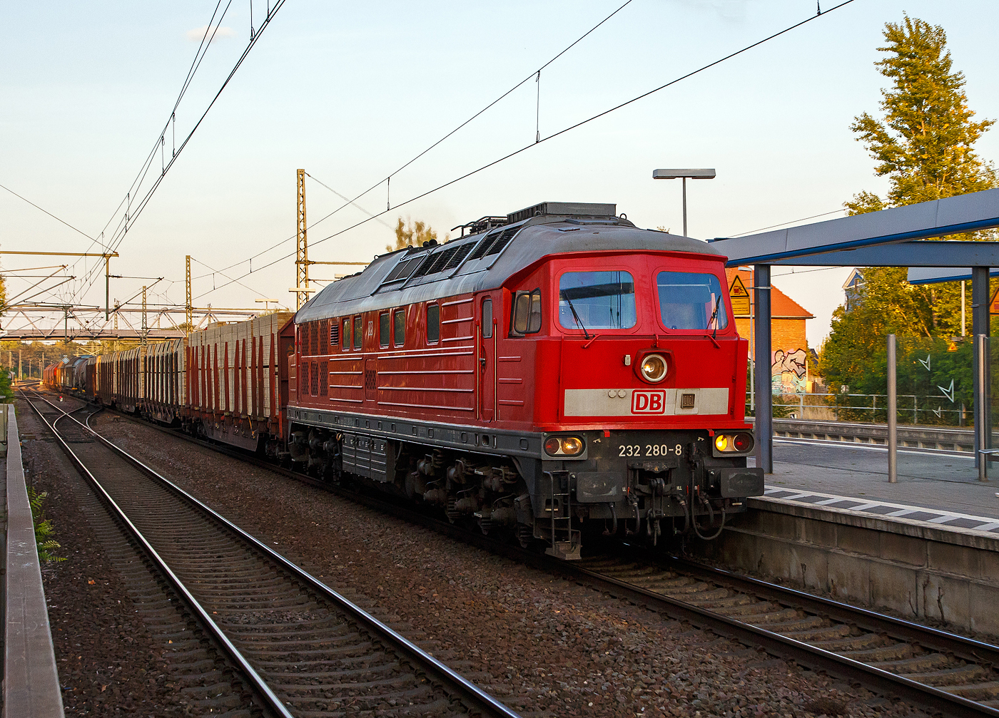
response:
[[[153,427],[113,414],[95,425],[332,587],[398,617],[404,633],[521,714],[914,712]]]

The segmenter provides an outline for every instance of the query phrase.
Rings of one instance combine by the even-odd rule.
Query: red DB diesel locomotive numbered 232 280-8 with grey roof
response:
[[[562,558],[717,535],[763,492],[724,260],[572,203],[383,255],[297,314],[272,445]]]

